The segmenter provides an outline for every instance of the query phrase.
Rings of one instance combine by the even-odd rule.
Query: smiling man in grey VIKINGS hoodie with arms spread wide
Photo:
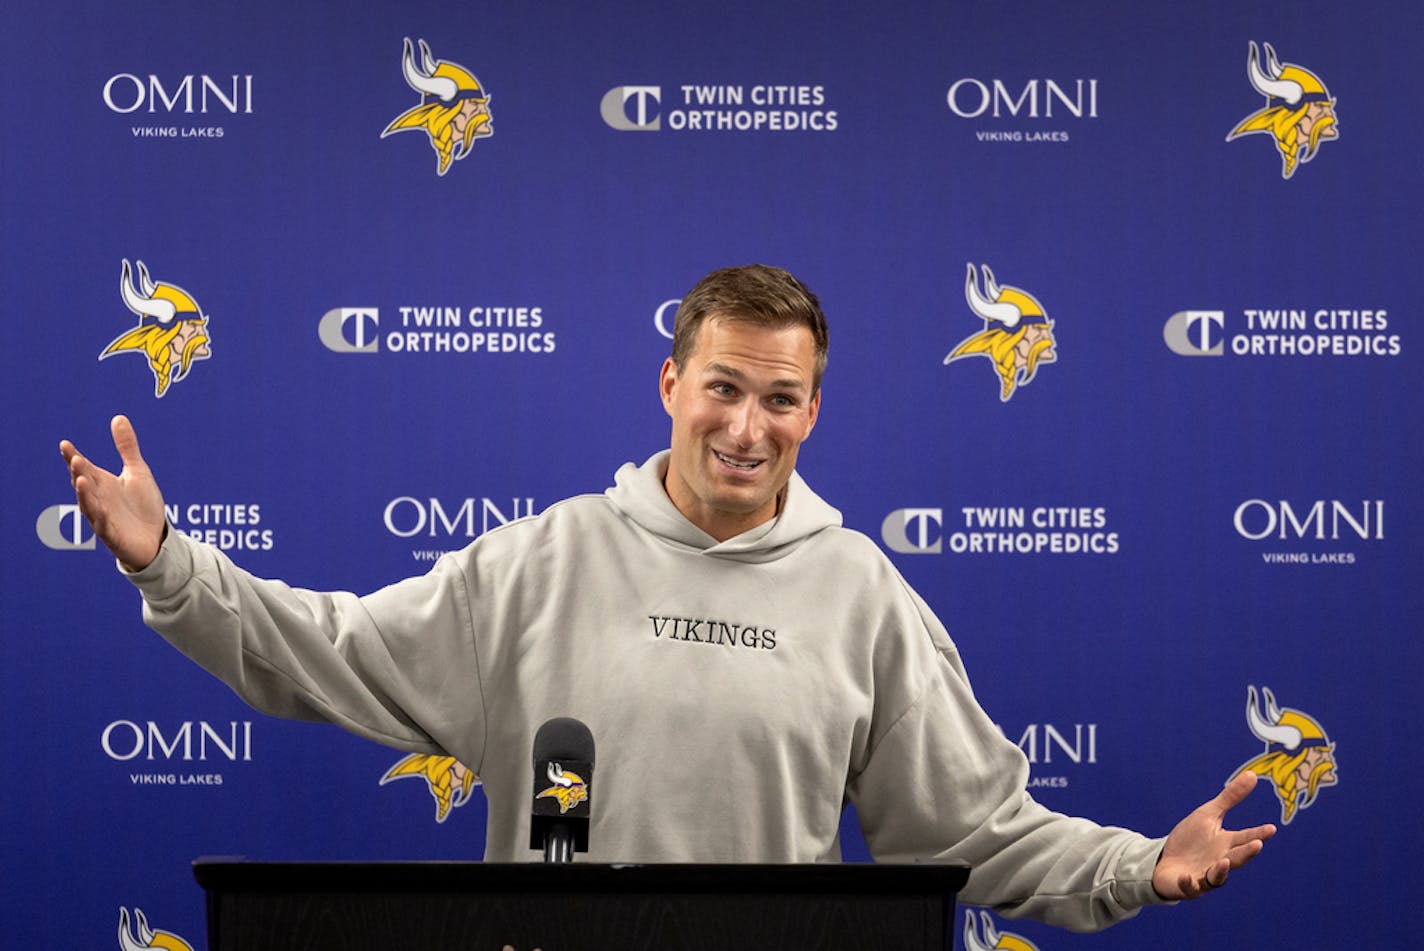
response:
[[[165,532],[122,417],[120,476],[60,448],[154,629],[258,709],[460,759],[491,860],[530,857],[533,733],[567,715],[598,740],[595,861],[836,861],[849,799],[877,858],[970,864],[963,898],[1005,915],[1094,930],[1222,886],[1274,833],[1222,829],[1253,774],[1166,840],[1027,794],[943,625],[795,471],[826,339],[785,270],[708,275],[659,377],[668,451],[365,598]]]

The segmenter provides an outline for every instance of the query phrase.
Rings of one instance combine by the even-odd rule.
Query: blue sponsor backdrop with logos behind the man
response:
[[[261,718],[147,632],[61,437],[114,464],[127,413],[175,528],[370,591],[664,447],[675,300],[750,261],[832,322],[802,474],[944,618],[1044,803],[1162,834],[1276,770],[1232,821],[1280,834],[1209,901],[991,928],[1424,931],[1414,4],[27,6],[0,38],[11,947],[202,947],[204,854],[484,834],[478,787],[434,794],[460,767],[382,783],[399,753]],[[1034,373],[1005,302],[1051,340]]]

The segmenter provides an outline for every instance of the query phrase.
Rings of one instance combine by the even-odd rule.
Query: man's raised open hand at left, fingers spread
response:
[[[80,456],[68,440],[60,441],[60,454],[68,464],[80,511],[94,527],[94,534],[125,571],[140,571],[158,557],[164,541],[168,524],[164,495],[138,451],[138,436],[128,419],[115,416],[110,430],[124,464],[118,476]]]

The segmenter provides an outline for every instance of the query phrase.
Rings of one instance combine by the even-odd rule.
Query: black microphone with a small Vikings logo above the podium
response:
[[[538,727],[530,848],[543,848],[544,861],[568,863],[575,851],[588,851],[592,783],[594,735],[588,727],[568,716]]]

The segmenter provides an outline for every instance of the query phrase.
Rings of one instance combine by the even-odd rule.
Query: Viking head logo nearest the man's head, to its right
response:
[[[1032,295],[1018,288],[1001,288],[988,265],[984,265],[983,290],[974,265],[968,265],[964,299],[974,316],[984,320],[984,329],[961,340],[944,362],[953,363],[968,356],[988,357],[1000,377],[998,399],[1007,403],[1018,387],[1028,386],[1040,363],[1058,359],[1054,322]]]

